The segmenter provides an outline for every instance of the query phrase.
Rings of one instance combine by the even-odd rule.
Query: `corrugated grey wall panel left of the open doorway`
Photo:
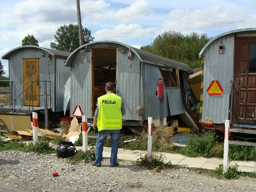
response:
[[[88,62],[83,57],[88,56]],[[70,116],[75,107],[80,105],[87,118],[92,118],[92,65],[91,53],[80,50],[71,68]]]

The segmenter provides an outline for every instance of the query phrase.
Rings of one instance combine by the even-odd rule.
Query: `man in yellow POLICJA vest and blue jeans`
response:
[[[93,166],[101,166],[103,146],[107,136],[111,137],[110,166],[118,166],[117,152],[118,141],[122,129],[122,116],[125,115],[125,107],[122,98],[114,94],[114,83],[108,82],[105,86],[107,94],[100,96],[94,114],[93,129],[98,127],[98,136],[95,147],[95,161]]]

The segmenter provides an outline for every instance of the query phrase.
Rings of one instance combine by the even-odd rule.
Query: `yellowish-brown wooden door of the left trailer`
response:
[[[35,80],[39,81],[39,59],[23,59],[23,90]],[[39,106],[39,82],[23,92],[23,102],[26,106]]]

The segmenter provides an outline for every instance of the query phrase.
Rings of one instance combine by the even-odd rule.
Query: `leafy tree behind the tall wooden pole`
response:
[[[91,31],[82,27],[83,44],[92,42],[94,37]],[[50,43],[52,49],[73,52],[79,45],[78,24],[70,24],[68,26],[60,26],[54,35],[54,42]]]

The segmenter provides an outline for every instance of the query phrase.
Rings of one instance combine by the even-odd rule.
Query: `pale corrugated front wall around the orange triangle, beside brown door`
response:
[[[219,54],[219,45],[225,46],[224,54]],[[202,122],[205,118],[214,123],[225,123],[228,119],[230,82],[233,81],[234,34],[229,34],[212,42],[204,52],[204,90]],[[224,93],[221,96],[209,96],[206,90],[212,80],[218,80]]]

